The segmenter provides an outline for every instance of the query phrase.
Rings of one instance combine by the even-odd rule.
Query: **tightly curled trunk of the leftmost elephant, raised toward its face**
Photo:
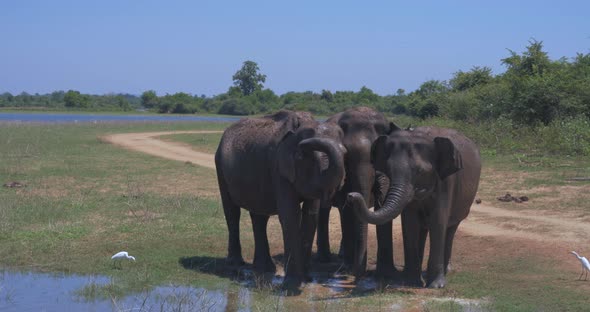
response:
[[[328,167],[320,170],[319,177],[312,180],[312,189],[321,190],[322,193],[332,195],[342,184],[344,179],[344,152],[343,147],[331,139],[311,138],[299,142],[299,148],[307,151],[319,151],[328,157]],[[320,166],[321,167],[321,166]]]

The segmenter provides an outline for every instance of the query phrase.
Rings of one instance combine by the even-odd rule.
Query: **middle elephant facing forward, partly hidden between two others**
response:
[[[358,192],[363,195],[366,202],[373,203],[375,182],[382,181],[384,177],[377,177],[371,165],[371,144],[380,135],[387,135],[397,127],[381,113],[368,107],[348,109],[331,116],[325,123],[332,125],[329,128],[337,125],[343,131],[342,142],[347,150],[344,160],[346,179],[344,186],[334,195],[332,202],[322,202],[317,231],[317,255],[320,262],[329,262],[331,259],[328,224],[330,207],[334,205],[340,211],[342,228],[340,256],[345,265],[358,277],[366,269],[367,223],[359,222],[352,210],[343,209],[346,195],[349,192]],[[377,185],[383,184],[377,183]],[[380,226],[377,232],[380,241],[377,267],[378,269],[393,267],[391,225]]]

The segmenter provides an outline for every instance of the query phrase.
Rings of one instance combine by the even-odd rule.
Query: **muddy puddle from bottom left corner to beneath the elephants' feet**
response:
[[[266,290],[257,289],[254,280],[246,278],[239,282],[242,287],[231,290],[168,285],[117,295],[116,282],[105,276],[0,271],[0,311],[258,311],[287,306],[313,311],[313,298],[338,297],[352,285],[345,276],[316,278],[297,299],[300,296],[284,297],[277,291],[281,277],[268,282]],[[361,287],[370,290],[376,285],[367,282]]]

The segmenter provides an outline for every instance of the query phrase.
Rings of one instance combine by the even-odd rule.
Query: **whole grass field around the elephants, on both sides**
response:
[[[116,283],[81,290],[89,297],[123,296],[168,283],[237,294],[242,284],[232,281],[222,269],[226,225],[214,170],[127,151],[99,140],[112,133],[221,130],[226,126],[0,125],[0,183],[26,184],[23,188],[0,188],[0,266],[114,278]],[[179,134],[162,139],[213,153],[219,137]],[[585,191],[588,183],[572,186],[565,182],[589,176],[588,160],[483,151],[479,196],[484,202],[494,202],[495,196],[512,191],[535,198],[535,209],[540,212],[590,216],[590,192]],[[553,200],[555,197],[559,200]],[[526,206],[509,207],[518,211]],[[280,237],[280,227],[273,219],[270,235]],[[242,233],[244,256],[251,261],[253,241],[246,213],[242,214]],[[459,235],[457,240],[457,271],[449,275],[449,286],[444,290],[387,288],[333,293],[320,283],[313,292],[289,298],[268,289],[251,289],[249,306],[255,311],[357,310],[367,305],[383,311],[461,311],[466,304],[494,311],[587,309],[590,282],[575,280],[577,260],[571,255],[552,257],[567,253],[569,245],[525,244],[469,234]],[[110,256],[120,250],[129,251],[138,261],[124,263],[123,270],[113,269]],[[282,241],[273,240],[271,250],[281,254]],[[401,250],[399,238],[397,250]],[[374,254],[369,257],[369,262],[374,261]],[[395,257],[400,264],[401,252]]]

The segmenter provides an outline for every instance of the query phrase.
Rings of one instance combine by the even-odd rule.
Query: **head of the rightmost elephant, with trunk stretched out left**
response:
[[[432,139],[413,130],[380,136],[372,145],[371,161],[390,180],[382,208],[369,210],[358,193],[350,193],[347,198],[358,217],[371,224],[389,222],[413,200],[430,198],[440,181],[463,167],[461,154],[450,139]]]

